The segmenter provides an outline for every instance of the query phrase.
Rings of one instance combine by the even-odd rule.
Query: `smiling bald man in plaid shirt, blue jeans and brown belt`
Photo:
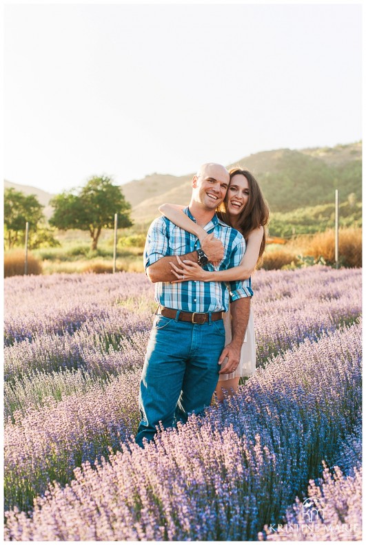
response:
[[[192,178],[192,198],[185,213],[204,226],[203,248],[199,240],[166,217],[152,222],[145,244],[145,270],[156,283],[159,303],[141,376],[139,406],[141,422],[136,442],[152,440],[156,426],[185,423],[188,414],[199,414],[210,405],[218,380],[218,359],[227,357],[222,372],[238,365],[247,321],[250,281],[230,283],[232,341],[224,349],[223,312],[228,310],[229,292],[222,282],[175,279],[170,261],[191,259],[201,266],[220,261],[220,268],[240,264],[245,241],[240,233],[218,220],[216,206],[225,198],[229,173],[221,164],[203,164]],[[183,256],[183,257],[182,257]]]

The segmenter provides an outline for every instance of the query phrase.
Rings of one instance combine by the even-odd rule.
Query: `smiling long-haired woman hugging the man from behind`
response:
[[[194,223],[183,213],[184,206],[176,204],[163,204],[159,211],[177,226],[185,229],[199,238],[202,246],[207,237],[205,229]],[[241,265],[227,270],[204,270],[194,261],[179,259],[180,267],[172,264],[172,272],[176,275],[176,282],[187,280],[199,280],[204,282],[231,280],[244,280],[250,278],[256,264],[261,261],[265,249],[265,226],[268,223],[270,209],[263,197],[258,182],[249,171],[240,168],[230,170],[230,184],[227,189],[225,201],[218,207],[217,215],[228,225],[234,227],[245,238],[247,249]],[[215,264],[214,264],[215,265]],[[225,344],[231,340],[230,312],[224,315],[226,332]],[[223,368],[225,363],[221,366]],[[256,368],[254,323],[252,310],[245,334],[245,340],[241,350],[241,361],[235,372],[220,374],[216,387],[216,396],[222,401],[225,394],[234,394],[238,389],[241,376],[254,374]]]

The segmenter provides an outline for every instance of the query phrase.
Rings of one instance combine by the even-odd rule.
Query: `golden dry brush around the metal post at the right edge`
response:
[[[333,229],[329,229],[329,231],[325,231],[324,233],[317,233],[304,246],[304,255],[311,255],[316,259],[323,257],[329,264],[334,263],[336,260]],[[338,256],[342,266],[362,267],[361,228],[344,228],[339,230]]]

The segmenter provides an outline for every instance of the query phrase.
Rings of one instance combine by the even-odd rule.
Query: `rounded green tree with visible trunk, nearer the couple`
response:
[[[85,187],[64,191],[52,199],[54,213],[50,224],[59,229],[89,231],[92,250],[96,250],[102,228],[114,227],[114,214],[119,215],[119,226],[130,227],[131,205],[118,186],[108,176],[93,176]]]

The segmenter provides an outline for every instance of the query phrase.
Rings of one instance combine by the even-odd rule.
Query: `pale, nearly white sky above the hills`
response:
[[[58,193],[362,138],[361,6],[5,7],[6,180]]]

